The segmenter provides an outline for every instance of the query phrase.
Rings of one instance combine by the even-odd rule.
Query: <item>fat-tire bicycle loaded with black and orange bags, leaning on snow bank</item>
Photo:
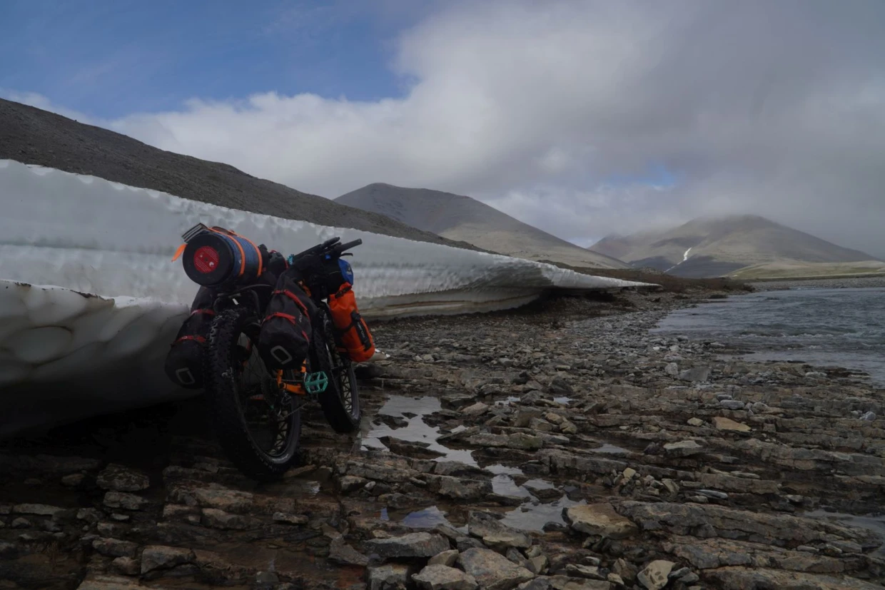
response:
[[[254,479],[280,477],[296,459],[307,402],[335,432],[356,431],[353,364],[374,344],[343,257],[362,240],[335,237],[285,258],[217,226],[197,224],[182,239],[173,261],[200,287],[165,372],[204,389],[231,462]]]

